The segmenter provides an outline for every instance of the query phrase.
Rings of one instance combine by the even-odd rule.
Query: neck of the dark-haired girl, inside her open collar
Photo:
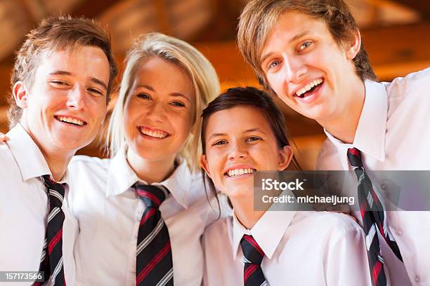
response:
[[[230,198],[235,210],[235,215],[242,226],[252,229],[256,222],[263,216],[263,210],[254,210],[254,197]]]

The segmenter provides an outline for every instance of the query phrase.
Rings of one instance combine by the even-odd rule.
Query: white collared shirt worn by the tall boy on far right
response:
[[[430,68],[391,83],[365,81],[365,102],[353,144],[345,144],[325,130],[328,139],[317,169],[352,170],[346,154],[348,148],[356,147],[371,179],[372,170],[430,170],[429,110]],[[383,182],[372,179],[372,184],[376,190],[390,192]],[[400,192],[400,199],[408,195]],[[360,212],[354,215],[361,223]],[[386,225],[404,262],[378,233],[391,285],[430,285],[430,212],[386,212]]]

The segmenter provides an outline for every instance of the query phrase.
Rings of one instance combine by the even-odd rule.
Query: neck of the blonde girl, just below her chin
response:
[[[138,154],[134,153],[130,148],[127,151],[127,161],[131,169],[136,173],[139,179],[152,184],[154,182],[162,182],[175,170],[175,158],[164,158],[157,161],[148,161]]]

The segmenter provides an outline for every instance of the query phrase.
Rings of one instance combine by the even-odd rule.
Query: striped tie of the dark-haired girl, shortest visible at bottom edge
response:
[[[264,252],[256,243],[252,236],[243,236],[240,240],[243,257],[245,259],[245,267],[243,268],[243,282],[245,286],[266,286],[266,278],[261,269],[261,261],[264,257]]]

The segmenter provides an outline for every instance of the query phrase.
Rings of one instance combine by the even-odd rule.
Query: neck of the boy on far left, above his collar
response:
[[[32,134],[27,125],[22,124],[22,127],[27,131],[28,135],[32,137],[37,147],[39,147],[41,154],[44,156],[45,161],[48,164],[49,170],[51,170],[53,180],[56,182],[60,181],[64,177],[67,165],[69,165],[70,160],[72,160],[72,157],[77,150],[70,151],[58,149],[58,147],[46,146],[48,144],[40,142],[37,137]]]

